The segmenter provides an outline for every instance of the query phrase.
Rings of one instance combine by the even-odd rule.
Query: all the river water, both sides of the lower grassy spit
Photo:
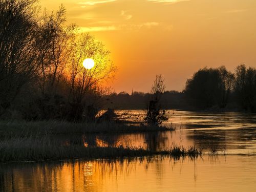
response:
[[[141,118],[142,111],[131,113]],[[167,122],[171,123],[176,132],[74,138],[87,145],[152,150],[196,145],[205,155],[0,164],[0,191],[256,191],[256,115],[177,111]],[[58,139],[77,142],[74,138]],[[214,147],[227,155],[209,156]]]

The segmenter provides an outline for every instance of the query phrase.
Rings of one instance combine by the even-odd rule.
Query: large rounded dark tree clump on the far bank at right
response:
[[[199,109],[225,109],[231,102],[243,111],[256,112],[256,69],[238,66],[203,68],[187,79],[184,90],[189,104]]]

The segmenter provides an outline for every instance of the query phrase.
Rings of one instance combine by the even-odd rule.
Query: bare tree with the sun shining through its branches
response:
[[[113,78],[116,67],[110,59],[110,51],[101,42],[87,34],[79,34],[73,42],[68,71],[66,73],[69,103],[75,119],[86,116],[86,109],[93,108],[96,98],[104,95],[108,89],[103,89],[100,83]],[[95,66],[88,70],[83,67],[85,58],[92,58]],[[92,109],[91,109],[92,110]]]

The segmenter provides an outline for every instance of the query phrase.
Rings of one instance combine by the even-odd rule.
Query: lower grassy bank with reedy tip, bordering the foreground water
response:
[[[169,150],[156,152],[142,147],[99,147],[83,143],[59,143],[48,136],[38,138],[11,138],[0,141],[0,161],[41,161],[64,159],[97,159],[143,157],[152,155],[198,156],[201,151],[173,146]]]

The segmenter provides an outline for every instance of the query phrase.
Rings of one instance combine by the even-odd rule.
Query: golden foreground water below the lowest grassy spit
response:
[[[0,164],[1,191],[255,191],[253,156]]]

